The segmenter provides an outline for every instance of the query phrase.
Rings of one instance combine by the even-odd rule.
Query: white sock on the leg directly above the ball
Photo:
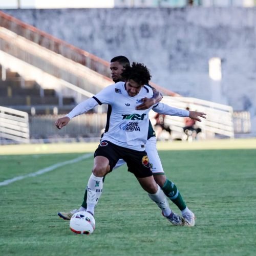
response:
[[[90,176],[87,185],[87,211],[94,215],[95,205],[102,193],[103,177],[96,177],[93,174]]]

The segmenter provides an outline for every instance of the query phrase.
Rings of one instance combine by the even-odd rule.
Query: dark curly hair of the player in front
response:
[[[133,62],[132,67],[127,66],[122,73],[124,80],[133,79],[140,85],[148,84],[148,81],[151,80],[150,71],[144,66],[143,63]]]

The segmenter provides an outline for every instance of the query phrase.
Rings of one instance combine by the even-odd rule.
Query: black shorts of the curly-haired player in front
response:
[[[152,176],[150,161],[145,151],[131,150],[118,146],[109,141],[100,142],[94,157],[103,156],[110,161],[110,172],[119,159],[123,159],[128,166],[128,172],[133,173],[137,178],[145,178]]]

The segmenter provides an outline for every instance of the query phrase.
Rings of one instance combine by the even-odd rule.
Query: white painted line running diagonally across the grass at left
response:
[[[68,160],[68,161],[60,162],[60,163],[55,163],[55,164],[53,164],[51,166],[48,166],[44,169],[37,170],[37,172],[35,172],[35,173],[30,173],[30,174],[26,174],[26,175],[22,175],[22,176],[16,176],[12,179],[4,180],[4,181],[0,182],[0,186],[6,186],[6,185],[9,185],[10,183],[18,181],[18,180],[23,180],[23,179],[26,179],[26,178],[29,178],[29,177],[35,177],[35,176],[38,176],[38,175],[41,175],[41,174],[51,172],[52,170],[57,169],[58,167],[61,167],[61,166],[67,165],[67,164],[77,163],[77,162],[80,162],[83,159],[88,159],[92,155],[93,155],[92,153],[82,155],[82,156],[77,157],[77,158],[72,159],[72,160]]]

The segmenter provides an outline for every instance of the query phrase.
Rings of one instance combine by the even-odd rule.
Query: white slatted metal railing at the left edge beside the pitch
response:
[[[29,143],[29,116],[27,113],[0,106],[0,139]]]

